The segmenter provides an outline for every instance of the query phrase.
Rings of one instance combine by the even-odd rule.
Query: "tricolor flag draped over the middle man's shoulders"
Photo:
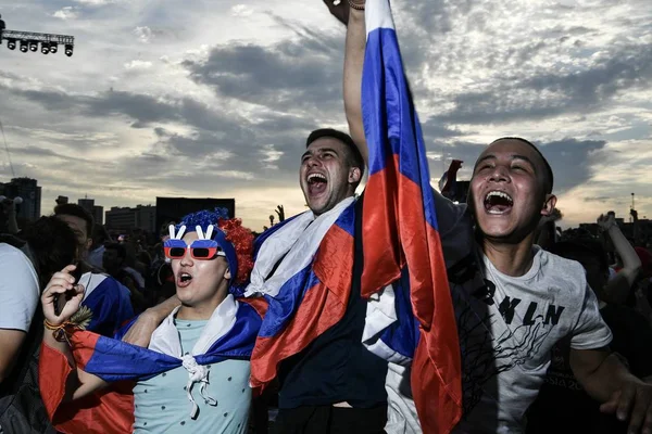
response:
[[[347,310],[353,271],[355,201],[312,212],[263,233],[246,295],[268,305],[251,355],[251,385],[264,388],[284,359],[304,349]]]

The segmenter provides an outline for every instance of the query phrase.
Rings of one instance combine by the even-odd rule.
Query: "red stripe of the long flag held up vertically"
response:
[[[423,432],[449,433],[462,417],[461,355],[441,241],[426,221],[419,186],[399,175],[399,155],[392,159],[367,182],[363,292],[377,292],[408,266],[421,326],[412,393]]]

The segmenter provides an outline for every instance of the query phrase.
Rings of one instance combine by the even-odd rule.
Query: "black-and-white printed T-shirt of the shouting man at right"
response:
[[[535,246],[530,270],[505,276],[480,252],[467,206],[435,197],[462,353],[464,416],[453,432],[521,433],[551,347],[572,336],[574,348],[600,348],[611,342],[611,332],[578,263]],[[391,368],[386,429],[416,433],[414,401],[402,391],[410,376]]]

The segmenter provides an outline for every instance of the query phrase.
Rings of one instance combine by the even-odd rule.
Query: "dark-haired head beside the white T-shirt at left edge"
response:
[[[75,260],[77,237],[64,221],[54,216],[41,217],[28,225],[21,238],[29,245],[41,288],[53,273]]]

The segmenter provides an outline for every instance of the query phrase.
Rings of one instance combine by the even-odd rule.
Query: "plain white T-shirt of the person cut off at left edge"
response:
[[[40,295],[38,277],[18,248],[0,243],[0,329],[29,331]]]

